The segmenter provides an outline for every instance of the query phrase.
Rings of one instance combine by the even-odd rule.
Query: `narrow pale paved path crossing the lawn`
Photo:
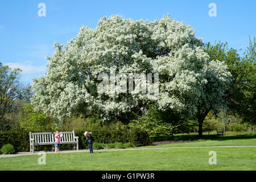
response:
[[[102,150],[94,150],[94,151],[119,151],[119,150],[154,150],[154,149],[174,149],[174,148],[245,148],[245,147],[256,147],[256,146],[209,146],[209,147],[162,147],[162,148],[123,148],[123,149],[102,149]],[[39,155],[44,151],[36,151],[35,153],[31,152],[18,152],[17,154],[9,154],[9,155],[0,155],[0,158],[10,158],[15,156],[23,156],[23,155]],[[89,152],[89,150],[65,150],[60,151],[60,153],[76,153],[76,152]],[[45,152],[46,154],[55,154],[55,152]]]

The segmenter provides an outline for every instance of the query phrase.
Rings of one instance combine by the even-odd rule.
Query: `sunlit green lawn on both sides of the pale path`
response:
[[[194,146],[256,146],[255,135],[227,135],[196,142],[168,143],[144,150],[118,150],[46,154],[39,165],[38,155],[0,158],[0,170],[256,170],[256,147],[250,148],[166,148]],[[161,149],[153,149],[153,148]],[[217,164],[209,164],[209,152],[217,154]],[[88,165],[90,164],[90,165]]]

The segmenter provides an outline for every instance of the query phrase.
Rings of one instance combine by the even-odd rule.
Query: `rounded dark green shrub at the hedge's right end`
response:
[[[129,142],[136,147],[151,145],[149,134],[141,127],[133,127],[130,129]]]

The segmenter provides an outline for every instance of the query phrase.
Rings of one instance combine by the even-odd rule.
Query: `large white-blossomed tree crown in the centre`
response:
[[[224,63],[209,60],[202,44],[190,26],[170,16],[154,22],[120,16],[101,18],[95,29],[81,27],[67,46],[55,43],[55,52],[48,57],[48,72],[33,80],[36,94],[32,104],[59,119],[95,112],[107,119],[127,118],[129,113],[154,103],[160,110],[175,110],[186,117],[200,115],[197,118],[201,121],[202,113],[222,104],[230,76]],[[132,92],[118,90],[117,84],[114,92],[109,92],[111,84],[103,87],[103,92],[98,90],[102,83],[98,76],[109,76],[113,70],[115,75],[126,76],[157,73],[156,99],[136,86]]]

